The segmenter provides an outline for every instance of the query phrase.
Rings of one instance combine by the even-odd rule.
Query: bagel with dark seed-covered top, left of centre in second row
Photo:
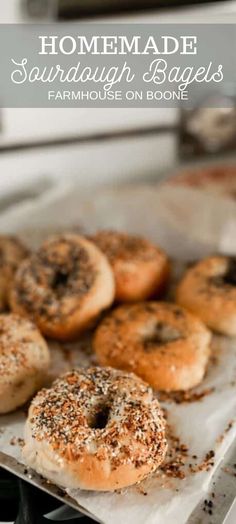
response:
[[[29,316],[47,336],[67,340],[87,328],[114,299],[105,255],[76,234],[49,238],[19,267],[12,310]]]

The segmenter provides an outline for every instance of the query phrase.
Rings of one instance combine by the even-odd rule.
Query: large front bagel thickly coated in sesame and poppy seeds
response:
[[[33,400],[23,458],[66,488],[113,491],[162,463],[165,422],[151,389],[111,368],[77,369]]]

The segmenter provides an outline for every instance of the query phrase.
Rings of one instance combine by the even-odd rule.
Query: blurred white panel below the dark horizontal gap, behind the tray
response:
[[[40,177],[76,178],[81,187],[156,179],[176,162],[173,136],[145,136],[0,155],[0,196]]]

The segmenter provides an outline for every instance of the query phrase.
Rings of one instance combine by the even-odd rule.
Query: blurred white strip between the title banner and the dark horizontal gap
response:
[[[2,109],[0,146],[172,124],[173,109]]]

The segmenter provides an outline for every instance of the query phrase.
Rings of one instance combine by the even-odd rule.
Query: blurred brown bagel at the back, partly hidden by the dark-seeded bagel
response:
[[[142,237],[117,231],[100,231],[89,238],[111,264],[118,302],[145,300],[163,291],[169,261],[159,247]]]

